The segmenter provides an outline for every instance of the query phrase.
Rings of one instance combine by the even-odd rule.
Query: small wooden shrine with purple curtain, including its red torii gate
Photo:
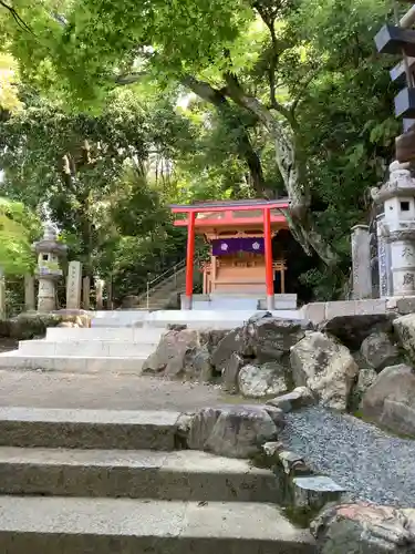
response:
[[[175,225],[187,227],[186,294],[181,308],[191,309],[196,300],[200,305],[200,300],[218,297],[255,298],[256,307],[261,309],[273,310],[279,300],[286,302],[283,308],[295,308],[297,295],[286,294],[286,260],[272,259],[273,236],[288,229],[282,213],[288,206],[288,199],[172,205],[172,213],[177,214]],[[194,298],[195,235],[204,235],[210,257],[201,267],[203,295]]]

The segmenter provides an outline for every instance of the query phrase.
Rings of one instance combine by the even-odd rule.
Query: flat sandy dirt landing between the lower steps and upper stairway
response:
[[[0,371],[0,407],[178,410],[238,403],[215,386],[152,377]]]

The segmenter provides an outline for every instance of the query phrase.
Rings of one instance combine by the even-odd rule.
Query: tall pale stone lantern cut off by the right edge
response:
[[[415,296],[415,178],[394,162],[375,199],[384,206],[378,235],[388,250],[390,290],[393,296]]]

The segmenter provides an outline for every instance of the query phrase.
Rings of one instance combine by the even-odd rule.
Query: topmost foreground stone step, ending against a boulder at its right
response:
[[[0,445],[170,451],[178,416],[162,410],[0,408]]]

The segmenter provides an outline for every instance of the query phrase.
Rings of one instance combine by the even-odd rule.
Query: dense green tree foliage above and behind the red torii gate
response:
[[[0,11],[0,35],[19,60],[25,104],[0,126],[0,165],[11,198],[33,209],[48,202],[74,255],[94,270],[114,266],[118,288],[134,291],[148,271],[184,255],[169,202],[287,194],[274,136],[243,102],[255,99],[278,133],[295,143],[314,230],[338,260],[338,269],[315,261],[310,270],[304,264],[304,287],[318,298],[341,296],[350,228],[367,220],[367,191],[384,178],[398,132],[392,116],[396,90],[387,73],[393,60],[377,57],[373,43],[391,16],[388,6],[376,0],[17,0],[13,6],[34,34],[10,24]],[[116,89],[118,78],[128,74],[142,79]],[[180,109],[189,75],[207,85],[208,94],[191,89],[199,98]],[[238,93],[230,90],[230,76]],[[85,140],[94,163],[82,162]],[[259,160],[259,184],[247,154]],[[76,178],[62,173],[65,155]]]

